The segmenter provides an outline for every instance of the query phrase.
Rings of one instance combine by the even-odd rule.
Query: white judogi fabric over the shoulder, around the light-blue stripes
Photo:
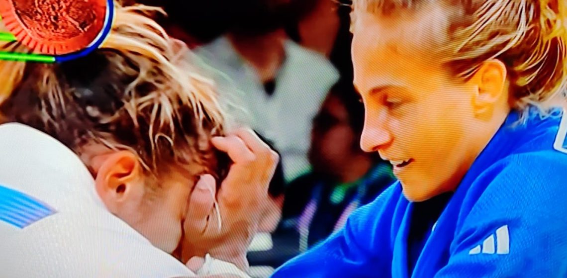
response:
[[[77,155],[36,129],[0,125],[0,185],[57,210],[23,229],[0,221],[0,277],[195,276],[109,213]]]

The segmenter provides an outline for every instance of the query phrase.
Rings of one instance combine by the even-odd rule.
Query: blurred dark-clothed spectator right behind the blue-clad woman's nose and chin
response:
[[[352,211],[393,183],[391,166],[359,145],[364,108],[350,80],[337,83],[314,120],[313,171],[287,188],[281,229],[299,234],[300,251],[342,228]]]

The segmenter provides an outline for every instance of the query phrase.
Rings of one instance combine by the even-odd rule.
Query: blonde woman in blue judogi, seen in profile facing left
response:
[[[399,179],[273,277],[566,277],[563,1],[354,1],[361,146]]]

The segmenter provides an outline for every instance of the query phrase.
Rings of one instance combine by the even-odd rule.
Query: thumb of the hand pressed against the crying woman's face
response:
[[[216,182],[213,176],[202,175],[197,182],[187,207],[184,226],[191,226],[195,230],[205,230],[207,217],[211,213],[215,203]]]

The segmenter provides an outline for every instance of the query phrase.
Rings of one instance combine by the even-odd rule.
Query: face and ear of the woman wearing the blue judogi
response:
[[[424,35],[441,38],[440,7],[409,18],[354,15],[354,84],[366,108],[362,149],[411,162],[394,166],[409,200],[453,191],[510,111],[506,67],[488,60],[467,81],[451,74]]]

